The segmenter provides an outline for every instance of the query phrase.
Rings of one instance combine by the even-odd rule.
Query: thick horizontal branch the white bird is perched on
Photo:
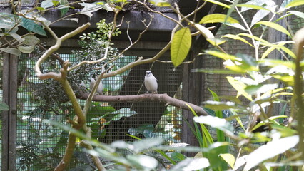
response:
[[[86,100],[88,98],[88,93],[83,93],[81,99]],[[203,110],[198,105],[193,105],[192,103],[185,102],[183,100],[178,100],[176,98],[171,98],[167,94],[142,94],[142,95],[95,95],[93,97],[93,101],[100,101],[100,102],[142,102],[142,101],[154,101],[164,103],[166,105],[173,105],[178,108],[182,108],[185,110],[190,110],[188,105],[193,108],[193,110],[198,115],[208,115],[208,113]]]

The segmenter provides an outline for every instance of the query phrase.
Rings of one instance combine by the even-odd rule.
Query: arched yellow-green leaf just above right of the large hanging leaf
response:
[[[208,14],[207,16],[204,16],[199,24],[208,24],[208,23],[229,23],[229,24],[238,24],[238,20],[233,19],[232,17],[228,17],[226,20],[226,15],[225,14]]]

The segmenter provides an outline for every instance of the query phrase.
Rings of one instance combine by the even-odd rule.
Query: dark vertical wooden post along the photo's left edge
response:
[[[9,111],[2,112],[1,170],[16,170],[16,107],[18,56],[3,54],[3,101]]]

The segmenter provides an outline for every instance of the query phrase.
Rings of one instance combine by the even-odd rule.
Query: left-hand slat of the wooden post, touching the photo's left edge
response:
[[[9,53],[3,53],[3,102],[9,105]],[[9,111],[2,111],[1,170],[9,170]]]

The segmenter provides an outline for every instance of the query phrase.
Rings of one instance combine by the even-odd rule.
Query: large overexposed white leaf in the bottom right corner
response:
[[[299,136],[293,135],[287,138],[281,138],[279,140],[273,140],[266,145],[258,147],[257,150],[251,152],[247,157],[247,162],[244,170],[250,170],[252,167],[260,164],[264,160],[267,160],[275,155],[279,155],[292,147],[295,147],[299,142]]]

